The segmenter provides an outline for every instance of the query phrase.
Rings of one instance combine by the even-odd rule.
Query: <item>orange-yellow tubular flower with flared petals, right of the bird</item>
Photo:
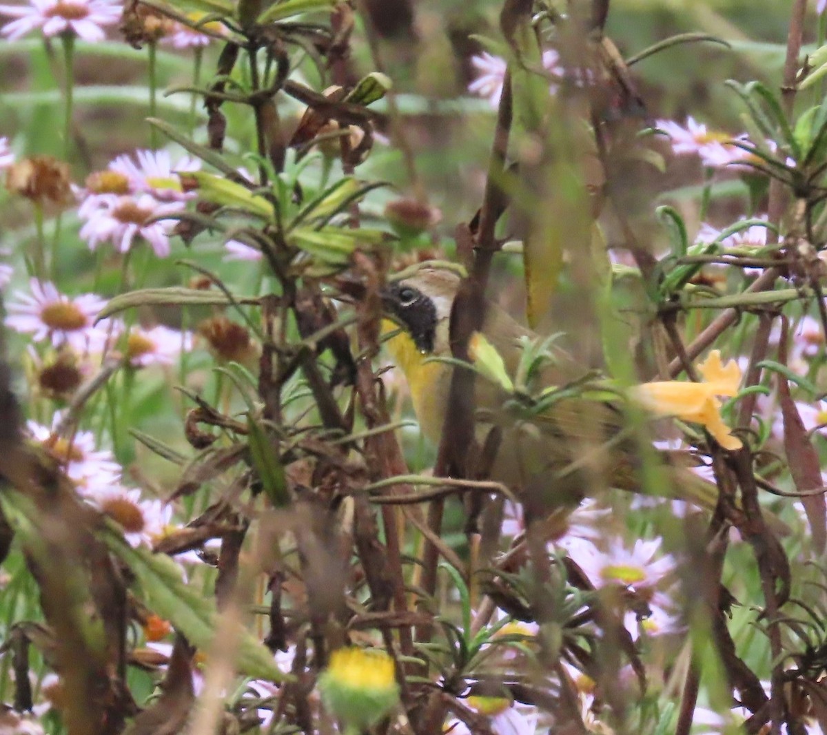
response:
[[[734,360],[721,362],[718,350],[698,365],[701,383],[662,380],[635,386],[630,394],[643,408],[657,416],[675,416],[683,421],[703,424],[724,449],[740,449],[742,444],[734,437],[721,418],[718,396],[738,394],[741,370]]]

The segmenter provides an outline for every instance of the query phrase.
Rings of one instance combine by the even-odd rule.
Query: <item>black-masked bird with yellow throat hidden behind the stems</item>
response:
[[[460,282],[452,270],[423,267],[388,284],[382,297],[385,346],[407,381],[423,435],[437,446],[450,404],[455,363],[446,358],[452,356],[449,325]],[[509,375],[516,374],[527,341],[538,340],[536,333],[493,302],[486,303],[481,333],[499,353]],[[558,350],[538,382],[565,386],[586,372]],[[528,410],[520,410],[514,395],[480,375],[475,378],[474,394],[480,446],[492,428],[500,432],[490,480],[514,489],[523,502],[530,500],[546,512],[576,506],[600,488],[643,492],[640,435],[629,428],[619,400],[590,399],[573,391],[533,413],[530,400],[523,401]],[[662,457],[657,494],[715,508],[715,484],[674,457]]]

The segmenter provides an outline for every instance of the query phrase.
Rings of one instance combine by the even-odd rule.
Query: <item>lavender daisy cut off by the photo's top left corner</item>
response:
[[[22,5],[0,5],[2,15],[17,18],[0,33],[14,41],[40,28],[44,36],[71,32],[93,43],[103,41],[103,27],[117,23],[121,12],[117,0],[29,0]]]

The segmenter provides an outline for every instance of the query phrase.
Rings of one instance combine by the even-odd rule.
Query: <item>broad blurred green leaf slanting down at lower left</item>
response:
[[[129,546],[114,522],[108,522],[98,536],[135,575],[133,587],[138,597],[184,633],[195,647],[209,651],[218,623],[213,598],[205,597],[203,589],[186,585],[181,568],[169,556],[154,554],[146,546]],[[237,650],[235,663],[241,674],[271,681],[289,680],[289,675],[275,665],[273,654],[249,631],[240,632]]]

